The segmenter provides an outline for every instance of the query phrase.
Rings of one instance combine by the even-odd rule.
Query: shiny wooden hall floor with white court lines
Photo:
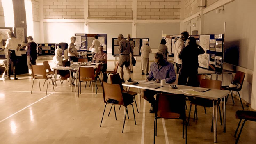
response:
[[[108,69],[113,68],[113,62],[109,62]],[[139,62],[138,62],[139,63]],[[134,68],[133,80],[144,79],[139,70]],[[63,85],[57,82],[56,92],[53,87],[42,87],[43,80],[38,80],[32,87],[32,77],[18,75],[19,80],[0,80],[0,143],[1,144],[152,144],[154,115],[148,111],[150,104],[142,100],[139,114],[135,111],[136,123],[134,123],[132,107],[128,106],[130,119],[126,120],[124,133],[123,110],[117,110],[117,121],[114,111],[107,114],[110,105],[107,105],[102,126],[101,117],[105,103],[100,83],[98,82],[98,94],[87,89],[82,90],[78,98],[77,93],[72,93],[69,82]],[[125,72],[125,79],[128,76]],[[110,82],[110,80],[109,80]],[[82,87],[85,86],[85,83]],[[74,88],[73,88],[74,89]],[[137,91],[137,89],[131,89]],[[95,89],[94,89],[95,92]],[[137,102],[138,97],[136,96]],[[189,104],[187,103],[188,107]],[[192,107],[191,115],[194,113]],[[136,109],[136,108],[135,108]],[[218,143],[234,144],[234,133],[239,120],[235,119],[235,112],[241,110],[240,102],[235,99],[235,105],[229,99],[226,106],[226,133],[218,122]],[[248,109],[248,107],[246,107]],[[210,132],[212,121],[212,108],[198,107],[198,120],[191,119],[187,135],[189,144],[213,144],[213,133]],[[188,116],[188,110],[187,110]],[[240,144],[253,144],[256,141],[256,123],[247,121],[240,137]],[[158,120],[158,136],[156,144],[183,144],[181,120]]]

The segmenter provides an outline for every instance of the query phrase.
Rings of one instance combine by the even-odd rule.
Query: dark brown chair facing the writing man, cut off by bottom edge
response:
[[[185,109],[184,94],[157,94],[155,103],[155,121],[154,121],[154,144],[155,136],[157,136],[157,119],[182,119],[183,120],[183,135],[184,125],[186,126],[186,144],[187,144],[187,120]]]

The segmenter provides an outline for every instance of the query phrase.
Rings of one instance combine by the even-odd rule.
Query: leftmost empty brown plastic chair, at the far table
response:
[[[40,87],[39,79],[47,80],[47,87],[46,87],[46,94],[47,94],[48,81],[49,81],[48,79],[52,80],[52,77],[47,77],[45,67],[44,66],[32,65],[32,73],[33,73],[32,74],[33,75],[33,85],[32,85],[32,89],[31,89],[31,94],[32,94],[35,79],[38,79],[40,91],[41,91],[41,87]],[[53,88],[53,91],[54,91],[54,88]]]

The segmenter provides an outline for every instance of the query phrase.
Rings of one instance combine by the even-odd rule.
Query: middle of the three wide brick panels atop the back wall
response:
[[[89,0],[90,18],[132,18],[133,0]]]

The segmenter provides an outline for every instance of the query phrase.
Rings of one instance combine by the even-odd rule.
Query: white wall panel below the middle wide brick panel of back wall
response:
[[[112,38],[132,34],[132,23],[89,23],[90,34],[107,34],[107,59],[112,60]]]

